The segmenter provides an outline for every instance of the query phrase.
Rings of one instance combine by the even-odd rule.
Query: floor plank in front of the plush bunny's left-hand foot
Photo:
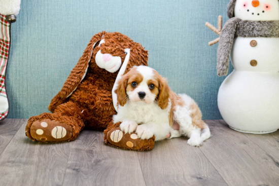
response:
[[[62,185],[72,142],[33,142],[26,123],[0,156],[1,185]]]

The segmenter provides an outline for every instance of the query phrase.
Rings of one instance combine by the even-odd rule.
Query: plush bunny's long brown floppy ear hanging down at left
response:
[[[93,48],[95,47],[96,43],[101,40],[102,36],[106,33],[106,31],[99,32],[95,34],[93,38],[90,40],[78,64],[73,68],[69,77],[64,83],[61,91],[59,92],[60,97],[62,99],[69,97],[77,89],[78,85],[81,83],[81,81],[86,75],[88,63],[90,62]]]

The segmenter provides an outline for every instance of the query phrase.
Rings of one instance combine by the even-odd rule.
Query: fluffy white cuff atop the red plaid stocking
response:
[[[0,14],[18,15],[20,10],[20,0],[0,0]]]

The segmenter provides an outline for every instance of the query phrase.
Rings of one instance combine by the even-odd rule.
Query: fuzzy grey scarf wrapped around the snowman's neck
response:
[[[218,76],[228,74],[229,57],[235,36],[279,38],[279,21],[243,21],[236,17],[229,19],[220,34],[217,53]]]

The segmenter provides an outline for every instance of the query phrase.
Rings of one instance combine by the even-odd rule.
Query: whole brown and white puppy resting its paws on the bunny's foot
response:
[[[192,146],[202,145],[211,136],[195,101],[172,92],[153,68],[133,67],[119,80],[116,93],[118,114],[113,121],[122,122],[120,129],[125,133],[135,131],[142,139],[155,135],[156,141],[188,136]]]

